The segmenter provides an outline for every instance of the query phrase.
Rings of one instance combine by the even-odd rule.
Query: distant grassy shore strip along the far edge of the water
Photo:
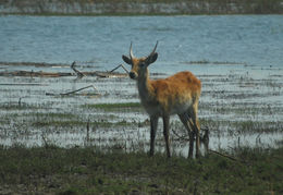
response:
[[[0,0],[0,14],[283,14],[283,0]]]

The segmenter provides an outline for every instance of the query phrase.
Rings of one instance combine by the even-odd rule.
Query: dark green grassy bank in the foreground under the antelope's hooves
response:
[[[0,148],[0,185],[13,193],[282,194],[283,148],[237,148],[245,162],[114,149]],[[4,187],[2,187],[4,188]]]

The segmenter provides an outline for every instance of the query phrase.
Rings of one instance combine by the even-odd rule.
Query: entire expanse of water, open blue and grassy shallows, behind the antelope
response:
[[[46,66],[5,65],[1,72],[73,72],[112,70],[134,41],[136,56],[159,40],[153,77],[189,70],[202,82],[199,119],[210,130],[211,149],[236,146],[276,147],[283,137],[283,26],[281,15],[42,17],[0,16],[0,61],[46,62]],[[123,72],[123,70],[119,70]],[[49,96],[88,85],[75,96]],[[127,77],[76,80],[1,76],[0,144],[62,147],[96,145],[125,150],[148,149],[149,124],[143,110],[86,109],[91,103],[138,102]],[[56,114],[65,114],[60,117]],[[52,117],[52,114],[54,117]],[[69,115],[70,114],[70,115]],[[57,121],[74,125],[56,125]],[[38,123],[48,122],[49,125]],[[87,121],[93,122],[87,132]],[[177,118],[172,127],[184,133]],[[96,123],[113,123],[109,126]],[[126,122],[125,125],[118,124]],[[157,149],[163,150],[160,121]],[[172,135],[173,138],[174,135]],[[187,144],[172,141],[175,153]]]

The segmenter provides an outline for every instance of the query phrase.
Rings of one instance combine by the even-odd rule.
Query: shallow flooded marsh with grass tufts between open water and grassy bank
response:
[[[96,66],[78,64],[77,69],[88,72]],[[199,119],[201,129],[210,131],[211,149],[282,144],[283,69],[220,62],[187,62],[182,69],[192,71],[202,82]],[[22,70],[29,73],[13,75]],[[70,75],[38,76],[35,74],[38,72]],[[77,78],[70,64],[2,63],[1,145],[147,150],[149,121],[139,105],[136,84],[123,69],[118,72],[123,74]],[[167,76],[167,72],[151,75]],[[159,122],[156,144],[163,151]],[[173,117],[172,149],[176,155],[186,156],[188,144],[180,136],[186,136],[186,132],[179,118]]]

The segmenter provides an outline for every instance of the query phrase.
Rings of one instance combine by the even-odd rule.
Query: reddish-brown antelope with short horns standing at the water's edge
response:
[[[150,150],[149,156],[155,154],[155,138],[159,118],[163,119],[163,135],[165,141],[167,156],[171,157],[169,139],[170,115],[177,114],[189,135],[188,158],[193,157],[194,141],[196,135],[196,158],[199,156],[199,123],[197,118],[198,100],[200,97],[201,82],[190,72],[179,72],[162,80],[150,80],[148,66],[153,63],[158,41],[147,57],[136,58],[133,54],[132,42],[130,58],[122,56],[125,63],[132,65],[128,73],[137,83],[137,89],[142,106],[150,118]]]

